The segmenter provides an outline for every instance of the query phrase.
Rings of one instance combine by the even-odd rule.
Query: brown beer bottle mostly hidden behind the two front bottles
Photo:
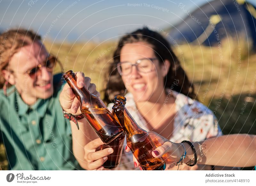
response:
[[[118,101],[118,100],[116,100],[116,101]],[[125,101],[126,101],[126,99],[123,102],[126,103]],[[118,118],[116,117],[116,113],[114,112],[114,110],[112,110],[111,116],[117,122],[119,122]],[[109,147],[113,148],[113,150],[114,150],[112,154],[108,155],[107,161],[105,161],[105,163],[102,165],[104,168],[114,169],[119,165],[120,159],[121,159],[121,156],[122,156],[123,147],[124,147],[124,137],[125,137],[125,134],[123,132],[120,136],[118,136],[112,142],[108,143],[107,145],[102,145],[101,146],[100,150],[103,150],[103,149],[106,149],[106,148],[109,148]]]

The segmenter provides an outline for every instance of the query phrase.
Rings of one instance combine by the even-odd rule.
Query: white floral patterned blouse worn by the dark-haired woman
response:
[[[202,141],[206,138],[222,135],[218,125],[218,120],[213,112],[202,103],[193,100],[181,93],[172,91],[175,98],[176,116],[174,118],[173,133],[169,139],[172,142],[180,143],[183,140]],[[125,107],[137,122],[140,128],[149,131],[147,122],[141,116],[136,108],[131,93],[125,95],[127,101]],[[108,109],[112,110],[113,103],[108,104]],[[126,147],[126,139],[124,140],[124,148]],[[134,170],[132,152],[123,151],[120,165],[117,170]]]

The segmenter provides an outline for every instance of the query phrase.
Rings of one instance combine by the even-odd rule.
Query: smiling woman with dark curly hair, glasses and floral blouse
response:
[[[126,34],[120,39],[113,59],[104,91],[109,109],[116,95],[125,96],[126,108],[141,128],[174,142],[201,141],[221,134],[212,111],[195,100],[193,84],[162,35],[148,28]],[[85,151],[91,150],[88,143]],[[99,154],[103,157],[104,152],[95,152],[95,156]],[[139,165],[133,162],[131,152],[124,152],[119,169],[134,167]],[[166,169],[172,168],[176,167]]]

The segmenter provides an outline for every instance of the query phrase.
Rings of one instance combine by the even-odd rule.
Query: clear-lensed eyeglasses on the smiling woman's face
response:
[[[117,70],[120,75],[128,75],[132,73],[132,66],[141,73],[149,73],[154,70],[153,61],[158,60],[157,58],[143,58],[137,60],[135,63],[130,62],[119,62],[117,63]]]

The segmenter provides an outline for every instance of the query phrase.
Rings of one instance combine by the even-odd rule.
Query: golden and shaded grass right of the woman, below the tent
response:
[[[232,41],[223,41],[221,50],[192,45],[180,48],[184,53],[180,60],[195,85],[197,98],[216,111],[222,132],[256,134],[255,52],[249,51],[246,43]],[[206,89],[209,90],[204,98]]]

